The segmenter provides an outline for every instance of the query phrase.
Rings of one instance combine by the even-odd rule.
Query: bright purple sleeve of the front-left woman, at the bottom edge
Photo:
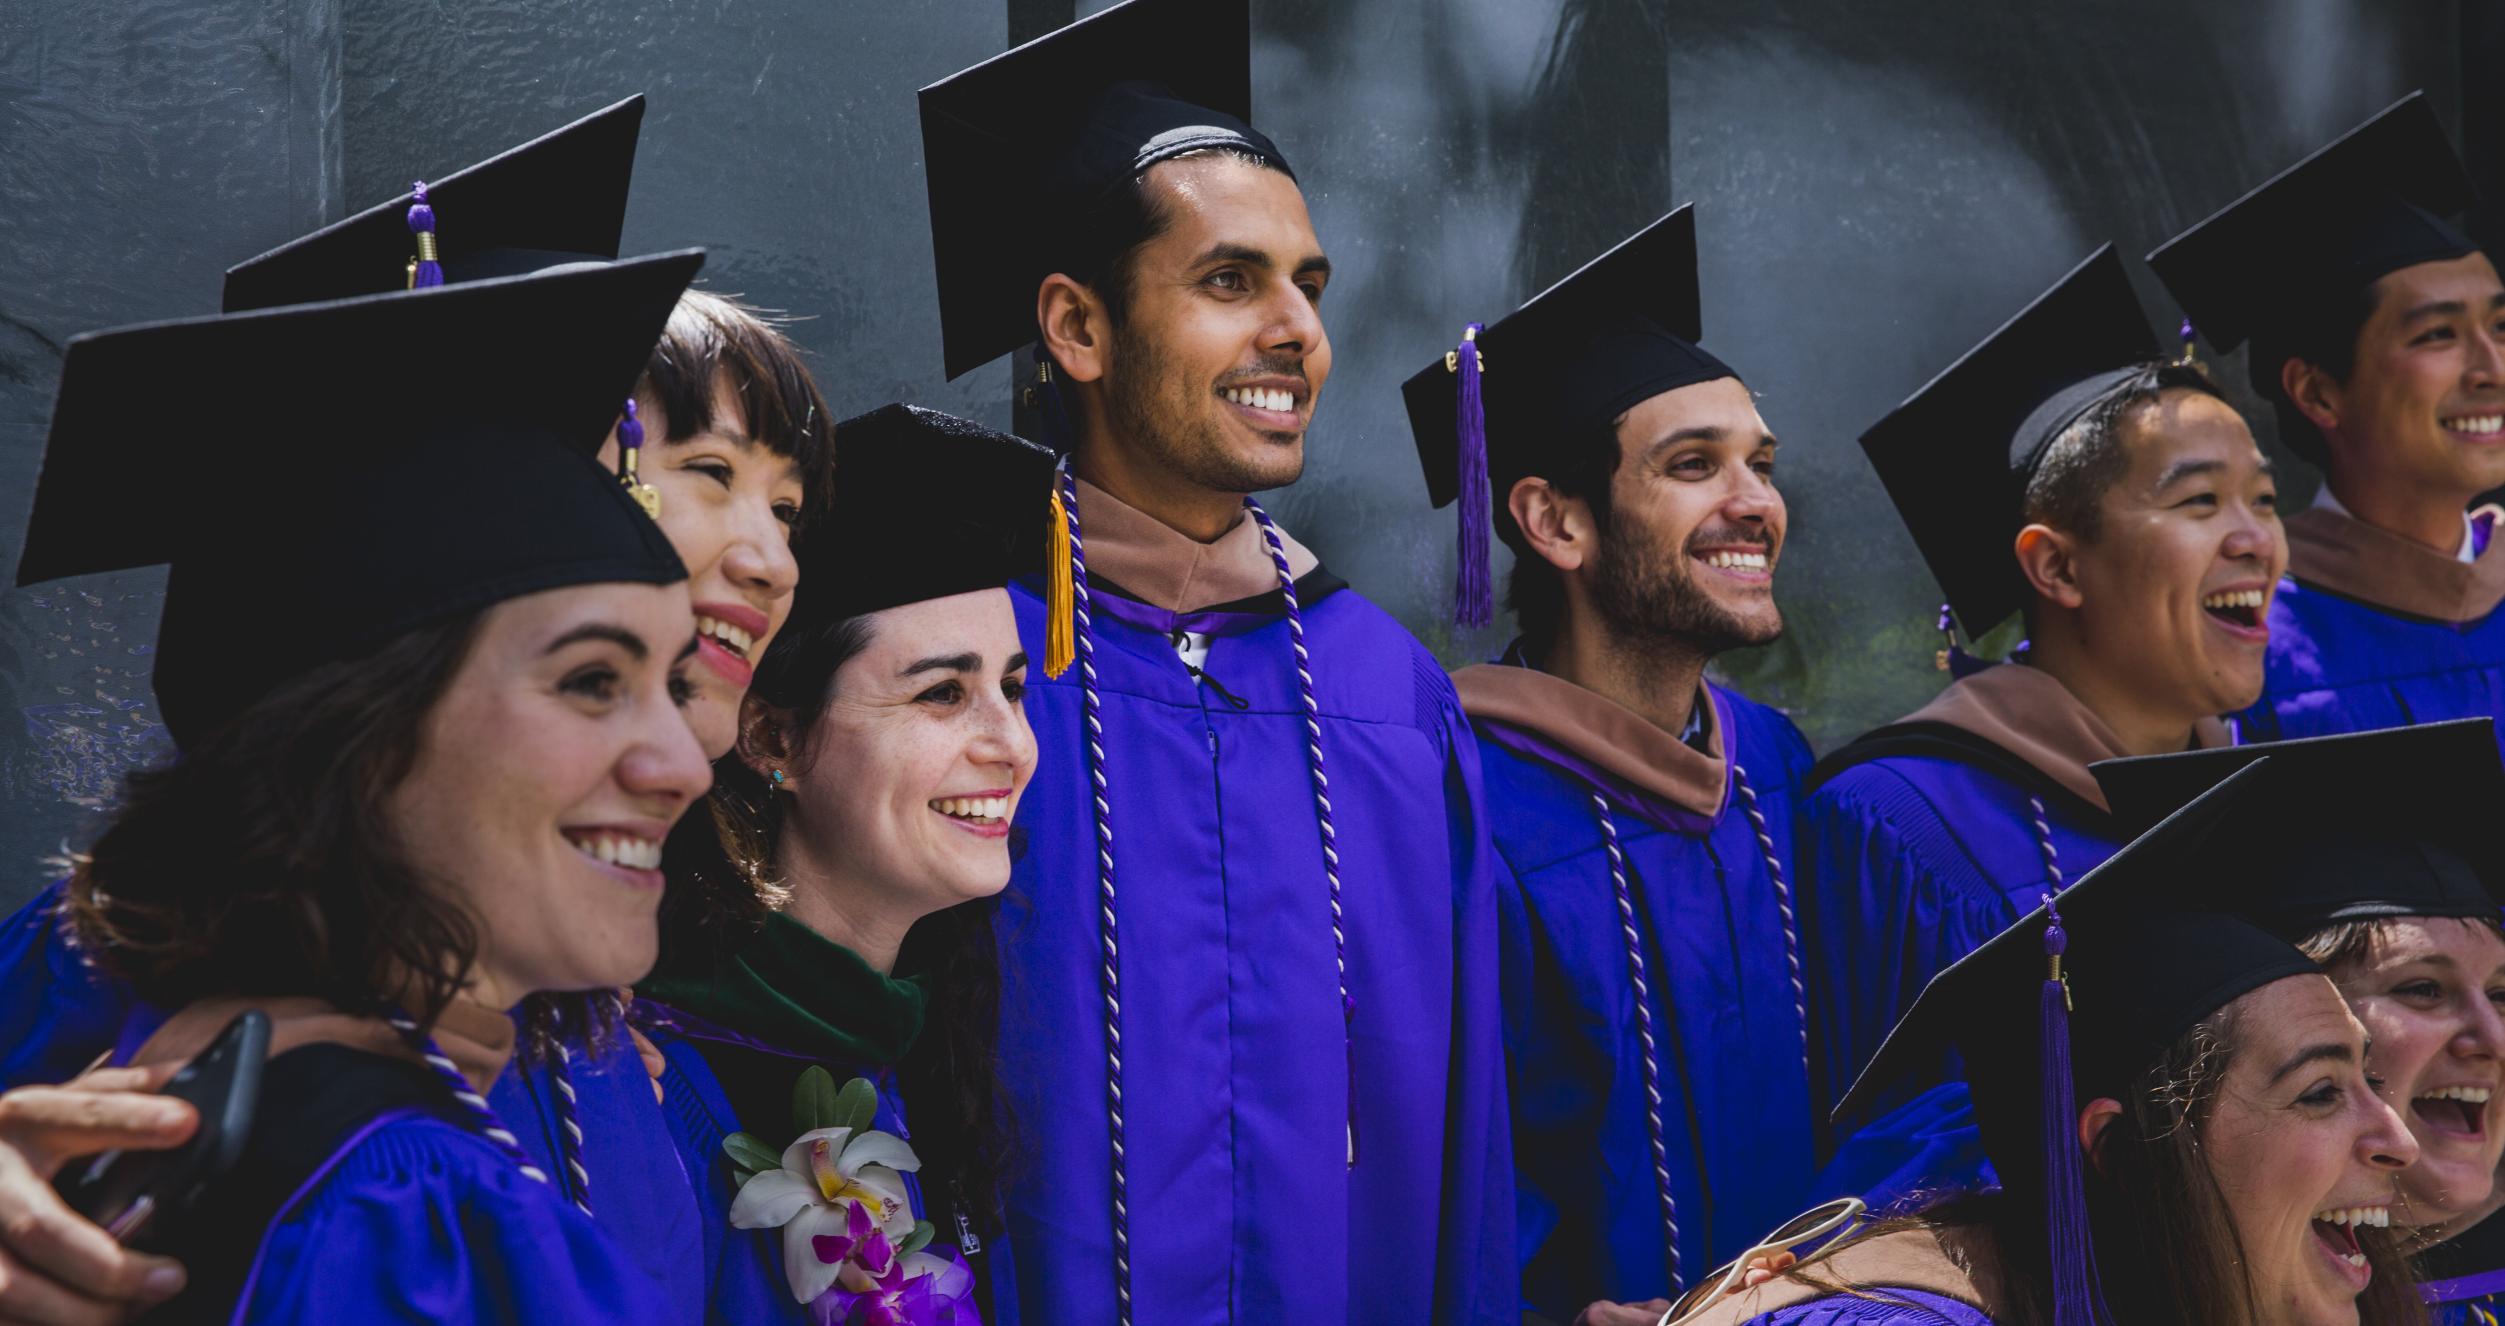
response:
[[[238,1323],[671,1321],[669,1296],[556,1188],[433,1118],[381,1125],[271,1226]]]

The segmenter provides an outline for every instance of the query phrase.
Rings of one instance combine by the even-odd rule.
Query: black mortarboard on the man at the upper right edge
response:
[[[2445,216],[2472,203],[2470,175],[2425,93],[2410,93],[2262,188],[2174,236],[2149,266],[2222,351],[2317,301],[2477,248]],[[2280,366],[2252,366],[2277,389]]]

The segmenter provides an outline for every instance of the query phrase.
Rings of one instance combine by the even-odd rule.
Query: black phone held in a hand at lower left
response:
[[[261,1068],[271,1058],[271,1015],[243,1010],[160,1095],[190,1100],[200,1130],[173,1151],[105,1151],[58,1181],[70,1211],[130,1243],[158,1216],[183,1211],[243,1158],[261,1103]]]

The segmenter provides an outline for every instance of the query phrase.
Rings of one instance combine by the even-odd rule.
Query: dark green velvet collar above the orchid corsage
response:
[[[1092,551],[1092,549],[1090,549]],[[892,1065],[922,1035],[929,990],[774,912],[704,975],[656,975],[636,993],[824,1063]]]

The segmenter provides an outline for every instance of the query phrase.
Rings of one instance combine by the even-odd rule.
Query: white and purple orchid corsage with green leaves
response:
[[[972,1271],[924,1253],[932,1223],[917,1221],[904,1176],[914,1148],[872,1128],[879,1093],[869,1078],[842,1090],[824,1068],[792,1088],[802,1128],[777,1156],[752,1133],[721,1138],[739,1178],[734,1228],[779,1228],[792,1298],[827,1323],[972,1321]]]

